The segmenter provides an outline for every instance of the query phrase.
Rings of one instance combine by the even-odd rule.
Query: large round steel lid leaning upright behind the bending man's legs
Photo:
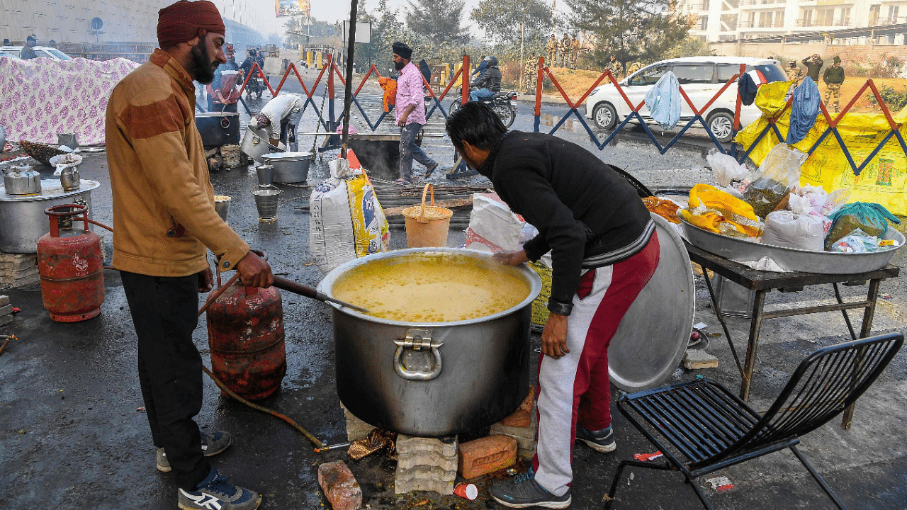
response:
[[[611,382],[628,392],[657,387],[671,377],[687,349],[696,310],[693,268],[683,240],[658,214],[652,220],[661,245],[658,269],[608,348]]]

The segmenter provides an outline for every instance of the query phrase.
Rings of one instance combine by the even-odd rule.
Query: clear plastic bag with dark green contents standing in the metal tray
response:
[[[779,143],[768,153],[756,180],[746,186],[743,200],[753,206],[759,218],[775,211],[787,194],[800,182],[800,165],[807,154],[785,143]]]

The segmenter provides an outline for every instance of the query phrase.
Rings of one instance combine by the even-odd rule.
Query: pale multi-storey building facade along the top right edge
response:
[[[679,0],[675,13],[689,17],[690,35],[720,42],[905,24],[907,0]]]

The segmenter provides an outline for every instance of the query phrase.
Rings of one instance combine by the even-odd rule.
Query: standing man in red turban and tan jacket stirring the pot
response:
[[[139,381],[159,470],[173,471],[184,509],[254,510],[261,496],[229,483],[206,456],[231,443],[201,434],[201,356],[192,342],[199,292],[212,287],[207,253],[250,287],[273,283],[214,211],[214,189],[195,127],[195,87],[226,62],[223,20],[206,1],[161,9],[161,49],[127,75],[107,103],[107,163],[113,193],[113,267],[120,270],[138,338]]]

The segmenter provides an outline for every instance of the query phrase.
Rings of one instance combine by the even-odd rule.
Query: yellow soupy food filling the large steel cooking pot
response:
[[[404,322],[451,322],[512,309],[529,295],[520,272],[453,253],[375,260],[349,270],[331,295],[369,315]]]

